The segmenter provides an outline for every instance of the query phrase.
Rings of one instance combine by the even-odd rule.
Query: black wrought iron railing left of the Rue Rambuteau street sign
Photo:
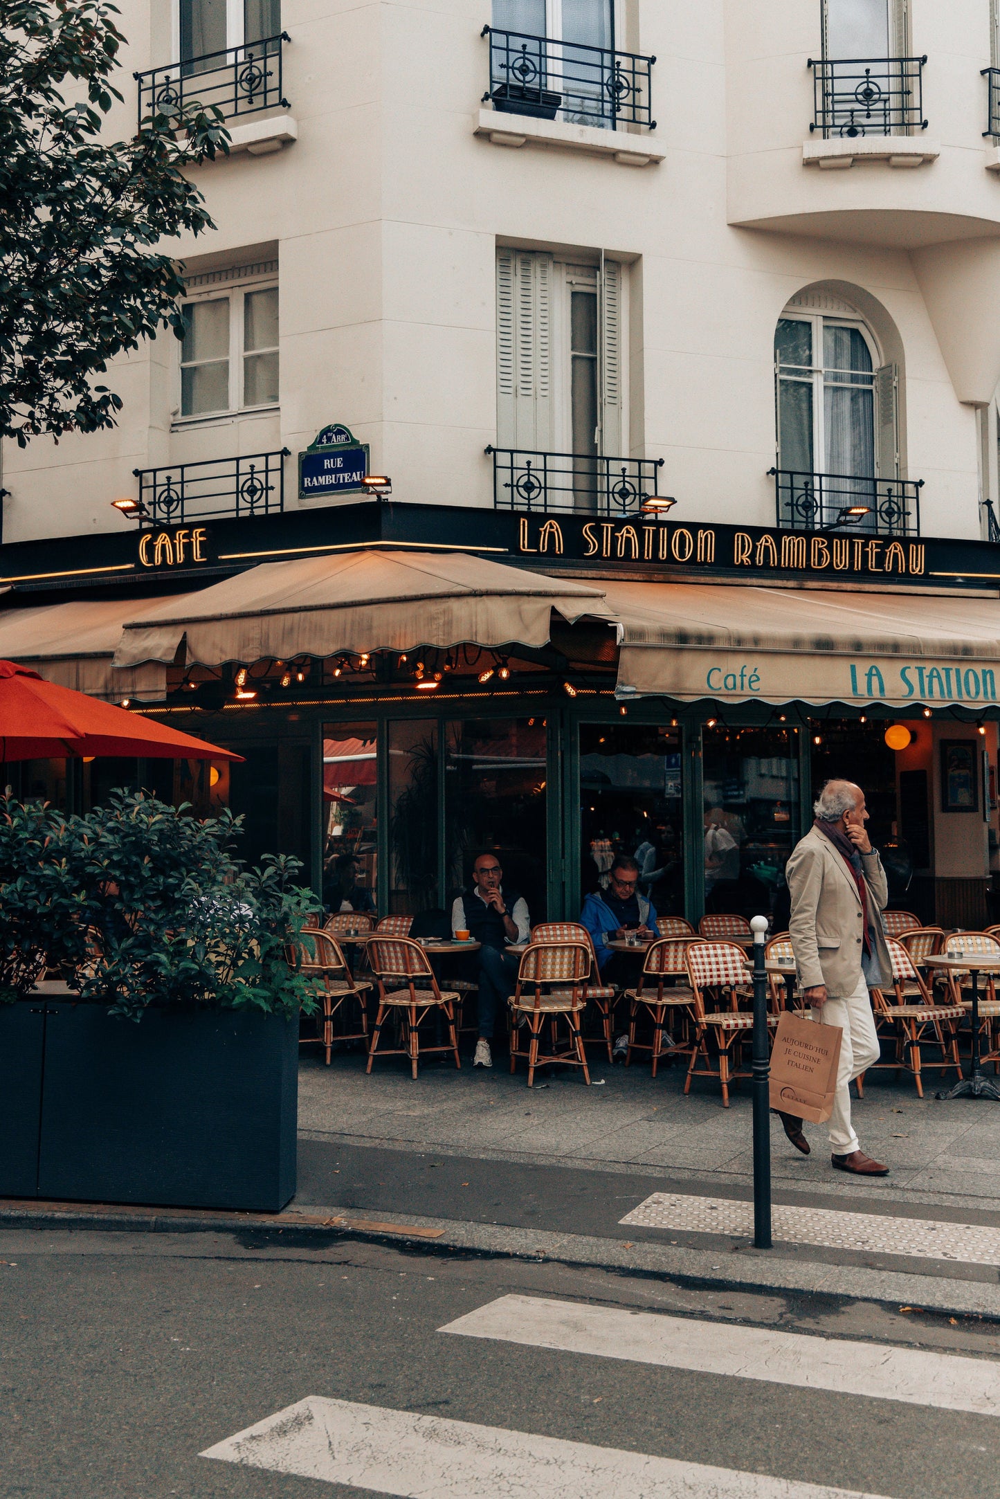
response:
[[[139,522],[183,526],[189,520],[276,516],[285,508],[283,460],[288,456],[288,448],[280,448],[237,459],[132,469],[139,481]]]

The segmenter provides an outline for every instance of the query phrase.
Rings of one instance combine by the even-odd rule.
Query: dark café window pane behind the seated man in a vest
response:
[[[448,896],[465,889],[489,850],[504,884],[523,895],[531,920],[546,916],[546,721],[466,720],[445,732]]]

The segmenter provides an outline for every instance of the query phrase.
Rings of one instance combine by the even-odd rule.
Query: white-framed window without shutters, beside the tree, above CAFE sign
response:
[[[187,301],[184,322],[181,420],[277,405],[277,286]]]

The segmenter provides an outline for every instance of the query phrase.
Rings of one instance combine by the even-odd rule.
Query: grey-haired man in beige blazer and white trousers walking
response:
[[[849,1084],[879,1060],[868,989],[888,983],[892,959],[882,926],[889,898],[885,869],[865,830],[865,793],[852,781],[828,781],[813,806],[816,821],[787,866],[789,935],[799,986],[813,1019],[843,1030],[837,1094],[829,1123],[832,1163],[856,1177],[888,1177],[865,1156],[850,1123]],[[781,1114],[784,1132],[808,1156],[802,1121]]]

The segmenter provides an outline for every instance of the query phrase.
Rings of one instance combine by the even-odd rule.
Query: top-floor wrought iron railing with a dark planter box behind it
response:
[[[502,114],[540,120],[558,115],[606,130],[621,124],[655,130],[649,79],[655,57],[492,25],[484,25],[481,34],[490,39],[490,87],[483,103],[492,100]]]

